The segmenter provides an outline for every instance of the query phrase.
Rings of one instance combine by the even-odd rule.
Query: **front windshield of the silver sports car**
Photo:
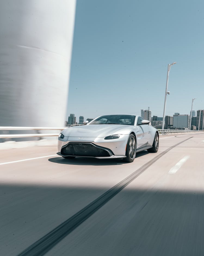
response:
[[[123,125],[134,125],[135,123],[135,116],[131,115],[107,115],[107,116],[100,116],[91,124],[123,124]]]

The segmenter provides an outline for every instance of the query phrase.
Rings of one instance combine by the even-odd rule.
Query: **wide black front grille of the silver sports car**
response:
[[[110,157],[110,154],[92,143],[70,142],[61,149],[63,155],[83,156],[83,157]]]

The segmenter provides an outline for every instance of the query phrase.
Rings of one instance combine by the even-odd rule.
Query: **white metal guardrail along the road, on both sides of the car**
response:
[[[17,131],[17,130],[47,130],[47,131],[62,131],[67,127],[14,127],[14,126],[0,126],[1,131]],[[160,134],[170,134],[170,133],[192,133],[192,132],[201,132],[195,130],[162,130],[158,129]],[[24,138],[24,137],[51,137],[58,136],[59,133],[36,133],[36,134],[0,134],[0,139],[11,139],[11,138]]]

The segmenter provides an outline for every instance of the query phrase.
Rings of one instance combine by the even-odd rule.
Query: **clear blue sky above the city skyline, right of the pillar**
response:
[[[78,0],[67,117],[204,109],[204,1]]]

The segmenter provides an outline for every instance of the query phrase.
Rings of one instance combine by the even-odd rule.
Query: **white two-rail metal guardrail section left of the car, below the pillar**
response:
[[[36,130],[36,134],[0,134],[0,139],[11,139],[11,138],[26,138],[26,137],[51,137],[58,136],[59,133],[38,133],[40,130],[47,131],[62,131],[66,127],[14,127],[14,126],[0,126],[1,131],[23,131],[23,130]]]

